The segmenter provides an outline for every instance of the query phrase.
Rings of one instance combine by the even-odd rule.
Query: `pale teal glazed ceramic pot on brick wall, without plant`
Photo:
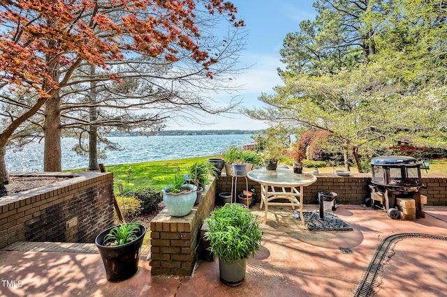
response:
[[[184,188],[189,188],[187,192],[171,193],[170,186],[163,188],[163,202],[168,208],[169,214],[173,217],[184,217],[191,213],[197,199],[196,185],[185,184]]]

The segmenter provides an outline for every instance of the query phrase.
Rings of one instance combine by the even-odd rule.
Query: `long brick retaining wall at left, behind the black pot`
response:
[[[113,224],[113,174],[44,172],[75,176],[0,197],[0,248],[16,241],[93,243]]]

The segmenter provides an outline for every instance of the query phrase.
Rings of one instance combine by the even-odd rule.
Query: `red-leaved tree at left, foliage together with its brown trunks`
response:
[[[235,26],[243,25],[235,18],[235,6],[222,0],[153,1],[150,5],[147,1],[114,0],[2,1],[0,89],[5,94],[38,96],[22,114],[10,117],[0,134],[0,185],[6,179],[3,156],[8,139],[43,105],[44,170],[60,170],[59,92],[80,66],[107,69],[107,61],[121,61],[128,54],[173,63],[187,53],[212,77],[210,66],[218,59],[201,43],[195,22],[196,13],[203,9],[211,15],[228,15]],[[110,68],[110,79],[119,82],[113,70]]]

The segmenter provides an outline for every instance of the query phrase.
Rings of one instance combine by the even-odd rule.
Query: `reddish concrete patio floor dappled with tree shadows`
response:
[[[315,205],[305,206],[314,211]],[[263,216],[258,205],[251,210]],[[309,231],[290,208],[269,208],[261,250],[247,265],[243,284],[219,280],[219,263],[199,261],[192,277],[138,273],[107,282],[99,254],[0,251],[1,296],[355,296],[379,244],[395,234],[447,236],[447,207],[426,207],[426,218],[391,220],[383,211],[339,206],[353,231]],[[393,241],[374,296],[447,296],[447,241],[412,237]]]

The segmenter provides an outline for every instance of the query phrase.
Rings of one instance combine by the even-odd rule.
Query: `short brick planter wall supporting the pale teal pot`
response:
[[[214,209],[216,181],[203,192],[203,200],[189,215],[171,217],[166,208],[151,221],[151,274],[191,275],[197,259],[200,227]]]

